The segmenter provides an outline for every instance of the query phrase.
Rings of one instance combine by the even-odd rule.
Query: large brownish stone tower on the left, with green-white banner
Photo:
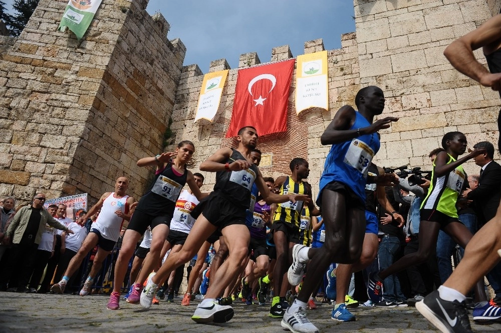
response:
[[[0,196],[98,198],[162,149],[185,49],[147,0],[104,0],[84,39],[56,31],[67,1],[41,0],[0,60]],[[12,44],[12,43],[11,43]]]

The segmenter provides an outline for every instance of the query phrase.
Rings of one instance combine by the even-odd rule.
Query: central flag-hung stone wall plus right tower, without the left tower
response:
[[[297,116],[294,74],[288,131],[259,141],[258,148],[265,154],[261,166],[265,176],[290,173],[290,160],[305,157],[310,162],[309,181],[317,185],[330,148],[323,147],[319,137],[336,111],[345,104],[354,105],[355,94],[367,85],[377,85],[385,92],[387,102],[380,117],[400,117],[391,128],[381,131],[381,150],[375,159],[380,166],[405,164],[429,169],[428,153],[440,147],[442,136],[449,131],[465,133],[470,147],[483,140],[497,142],[499,95],[458,73],[442,53],[454,39],[498,13],[501,2],[355,0],[354,6],[356,34],[343,35],[342,48],[328,52],[330,110],[307,110]],[[322,50],[322,40],[305,43],[305,54]],[[475,55],[485,63],[481,52]],[[272,61],[287,58],[292,58],[288,46],[272,50]],[[244,54],[238,68],[259,63],[257,54]],[[209,72],[227,68],[222,59],[212,62]],[[172,129],[176,142],[195,142],[199,162],[219,147],[234,144],[224,135],[231,117],[236,73],[237,69],[229,72],[214,122],[193,124],[203,74],[196,65],[183,69]],[[466,163],[465,169],[478,172],[472,162]],[[214,182],[215,175],[207,174],[208,188]],[[314,191],[317,188],[314,186]]]

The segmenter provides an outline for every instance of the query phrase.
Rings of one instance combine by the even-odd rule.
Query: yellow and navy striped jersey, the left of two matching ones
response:
[[[280,194],[307,194],[308,188],[304,182],[296,183],[290,176],[287,177],[280,188]],[[277,204],[277,210],[273,221],[282,221],[299,227],[301,211],[303,210],[303,201],[287,201]]]

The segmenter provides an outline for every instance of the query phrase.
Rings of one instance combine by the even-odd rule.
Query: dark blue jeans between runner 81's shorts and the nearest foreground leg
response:
[[[474,234],[477,230],[477,222],[475,214],[460,214],[459,220],[463,222],[466,228]],[[452,261],[451,256],[456,247],[456,242],[445,232],[440,230],[438,232],[437,239],[437,262],[438,262],[438,272],[440,273],[440,279],[442,283],[445,282],[452,274]],[[464,249],[461,248],[461,256],[464,255]]]

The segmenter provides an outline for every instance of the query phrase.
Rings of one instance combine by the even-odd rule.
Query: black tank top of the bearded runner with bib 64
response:
[[[239,151],[233,148],[231,150],[233,153],[225,163],[231,164],[236,160],[245,160]],[[240,171],[218,171],[214,191],[224,194],[235,206],[247,209],[250,205],[250,190],[257,176],[258,167],[255,164]]]

